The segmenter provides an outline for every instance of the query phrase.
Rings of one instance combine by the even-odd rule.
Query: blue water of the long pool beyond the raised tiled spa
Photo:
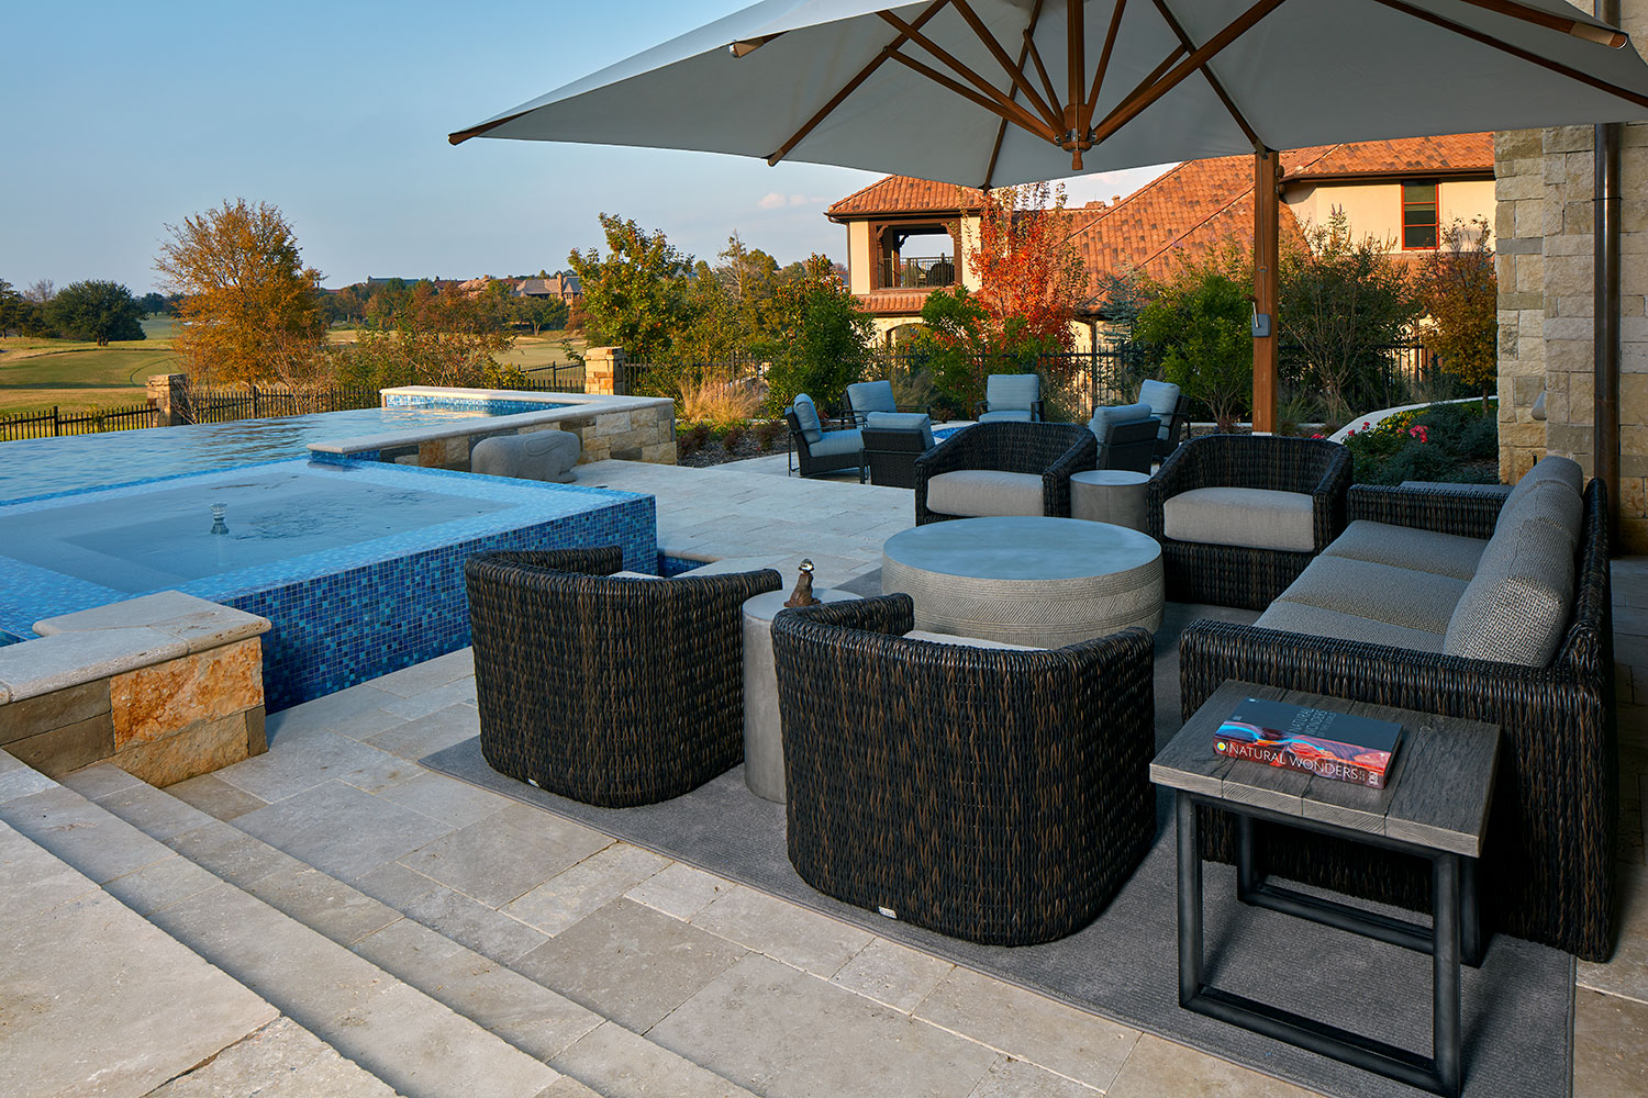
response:
[[[443,426],[455,420],[550,412],[557,407],[562,405],[494,400],[461,408],[358,408],[109,435],[25,438],[0,443],[0,502],[257,461],[307,458],[310,443]]]

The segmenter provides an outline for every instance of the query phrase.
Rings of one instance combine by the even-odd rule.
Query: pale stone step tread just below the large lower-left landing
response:
[[[232,836],[211,828],[214,820],[109,764],[68,775],[63,784],[41,780],[48,784],[36,782],[36,792],[0,802],[0,821],[396,1093],[405,1098],[585,1093],[572,1088],[570,1080],[562,1083],[536,1057],[231,879],[259,861],[279,872],[274,851],[231,848],[222,840]],[[188,853],[191,843],[199,844],[199,856]],[[321,909],[349,915],[331,905]]]

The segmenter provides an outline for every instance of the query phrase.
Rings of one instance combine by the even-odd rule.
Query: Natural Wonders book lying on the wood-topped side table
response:
[[[1402,726],[1332,710],[1244,698],[1220,724],[1213,749],[1231,759],[1384,789]]]

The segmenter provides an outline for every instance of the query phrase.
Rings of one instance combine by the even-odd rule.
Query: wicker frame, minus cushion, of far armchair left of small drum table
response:
[[[944,472],[999,469],[1042,477],[1042,514],[1070,519],[1070,474],[1096,468],[1099,443],[1081,423],[974,423],[916,458],[916,525],[964,519],[928,507],[928,482]]]

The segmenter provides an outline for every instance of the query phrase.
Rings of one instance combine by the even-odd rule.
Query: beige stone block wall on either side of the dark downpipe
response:
[[[1590,12],[1592,5],[1577,7]],[[1622,0],[1633,48],[1648,41],[1648,0]],[[1648,123],[1620,153],[1620,547],[1648,551]],[[1595,472],[1592,334],[1592,127],[1495,135],[1500,273],[1500,479],[1543,454]],[[1546,392],[1546,420],[1533,418]]]

